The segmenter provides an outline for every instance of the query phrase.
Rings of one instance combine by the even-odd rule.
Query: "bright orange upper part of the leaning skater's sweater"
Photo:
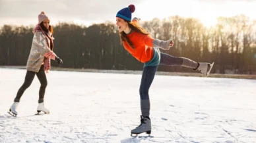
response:
[[[138,61],[141,61],[142,63],[146,63],[152,59],[154,55],[154,39],[151,38],[150,35],[144,35],[132,31],[130,34],[127,34],[127,38],[129,38],[134,48],[129,46],[126,41],[123,42],[123,47],[125,47],[125,49],[129,51],[129,53],[131,53],[133,57],[135,57]]]

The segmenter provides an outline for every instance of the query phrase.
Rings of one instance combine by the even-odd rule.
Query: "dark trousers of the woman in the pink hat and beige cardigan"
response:
[[[20,98],[25,92],[25,90],[32,84],[34,77],[38,76],[38,80],[41,83],[40,90],[39,90],[39,100],[38,103],[44,102],[44,93],[46,92],[46,86],[47,86],[47,79],[46,79],[46,72],[44,71],[44,65],[40,67],[39,72],[32,72],[27,71],[25,76],[25,81],[18,90],[18,93],[15,98],[15,102],[20,102]]]

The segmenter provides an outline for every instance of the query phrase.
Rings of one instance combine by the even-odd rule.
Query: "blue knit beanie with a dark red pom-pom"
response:
[[[129,7],[125,7],[123,9],[121,9],[120,11],[118,11],[116,16],[131,22],[131,13],[133,13],[134,11],[135,11],[135,6],[129,5]]]

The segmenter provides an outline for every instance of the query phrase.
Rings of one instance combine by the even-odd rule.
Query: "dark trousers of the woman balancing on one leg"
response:
[[[181,66],[183,59],[183,57],[173,57],[172,55],[168,55],[166,53],[160,53],[160,65]],[[156,74],[157,69],[158,66],[144,67],[143,69],[139,92],[141,96],[141,113],[144,117],[149,117],[150,100],[148,90],[154,80],[154,75]]]

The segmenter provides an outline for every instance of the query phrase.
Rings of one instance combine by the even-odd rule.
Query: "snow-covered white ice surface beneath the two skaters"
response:
[[[12,117],[7,111],[25,74],[0,69],[0,142],[256,142],[256,80],[156,75],[150,88],[154,138],[131,138],[140,124],[141,74],[51,71],[50,114],[34,115],[35,77]]]

